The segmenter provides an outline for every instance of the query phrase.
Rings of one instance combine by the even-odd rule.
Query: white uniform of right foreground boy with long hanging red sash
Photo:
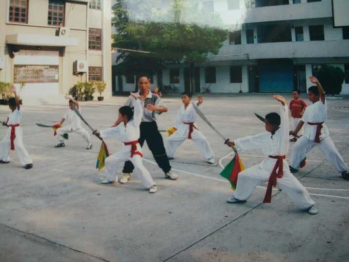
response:
[[[246,200],[251,197],[254,188],[261,183],[267,182],[270,174],[277,162],[276,159],[269,156],[285,156],[288,150],[288,109],[281,106],[280,110],[281,125],[280,129],[271,135],[270,132],[260,133],[254,136],[247,136],[234,140],[235,145],[242,150],[262,149],[267,157],[262,163],[254,165],[241,171],[238,174],[238,183],[233,196],[239,200]],[[285,191],[298,206],[307,209],[315,203],[309,197],[306,189],[289,171],[286,160],[283,160],[284,174],[282,178],[277,179],[277,187]]]

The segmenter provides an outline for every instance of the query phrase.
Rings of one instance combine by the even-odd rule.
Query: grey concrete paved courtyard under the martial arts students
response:
[[[82,102],[81,113],[94,128],[104,129],[125,100]],[[169,112],[159,116],[160,130],[173,126],[181,104],[179,96],[164,101]],[[349,100],[328,103],[331,137],[349,163]],[[278,190],[271,204],[263,204],[263,188],[256,188],[244,204],[226,203],[232,191],[219,172],[220,163],[231,160],[231,149],[201,119],[198,127],[217,164],[206,164],[186,141],[171,161],[179,179],[166,180],[144,146],[144,164],[158,184],[158,192],[149,194],[135,176],[126,185],[100,183],[104,170],[95,169],[96,138],[92,150],[76,134],[66,147],[54,148],[53,131],[35,123],[58,122],[67,105],[25,106],[24,100],[23,109],[24,143],[34,166],[21,168],[13,151],[12,162],[0,166],[0,262],[349,260],[349,181],[333,170],[319,148],[311,150],[297,173],[318,205],[317,215],[300,211]],[[204,96],[204,114],[231,139],[264,131],[254,112],[278,110],[279,103],[269,95]],[[0,120],[8,114],[8,107],[0,106]],[[5,132],[1,127],[0,138]],[[167,133],[162,135],[166,140]],[[111,152],[121,148],[115,139],[106,143]],[[260,151],[240,152],[240,157],[247,167],[263,159]]]

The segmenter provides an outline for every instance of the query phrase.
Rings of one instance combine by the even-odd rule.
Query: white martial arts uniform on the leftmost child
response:
[[[4,162],[10,161],[10,149],[11,149],[11,130],[12,127],[10,125],[17,125],[20,124],[21,118],[23,115],[23,110],[22,107],[14,112],[12,112],[7,121],[7,125],[9,126],[7,129],[7,133],[5,134],[5,137],[2,139],[1,144],[0,144],[0,160]],[[14,146],[15,146],[15,151],[17,152],[19,161],[21,165],[26,165],[26,164],[32,164],[32,159],[28,154],[28,151],[23,145],[23,131],[20,126],[15,127],[15,134],[16,138],[14,139]]]

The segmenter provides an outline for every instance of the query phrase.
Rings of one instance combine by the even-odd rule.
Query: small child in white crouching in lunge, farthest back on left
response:
[[[60,143],[55,145],[55,147],[65,147],[63,134],[75,132],[75,133],[81,135],[85,139],[85,141],[87,142],[86,149],[91,149],[92,148],[91,136],[88,133],[88,131],[86,131],[86,129],[82,128],[81,119],[73,110],[73,105],[75,105],[75,107],[80,112],[80,107],[79,107],[78,101],[76,101],[73,98],[70,98],[68,96],[66,96],[65,99],[69,99],[69,110],[67,112],[65,112],[61,122],[59,122],[59,125],[62,126],[62,124],[65,120],[68,124],[64,127],[57,129],[57,131],[56,131],[57,132],[57,139],[59,140]]]

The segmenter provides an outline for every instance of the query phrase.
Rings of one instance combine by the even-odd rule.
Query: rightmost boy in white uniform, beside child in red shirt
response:
[[[310,76],[309,79],[317,86],[308,88],[308,98],[313,104],[307,107],[297,128],[291,133],[296,136],[301,128],[304,127],[303,135],[292,149],[290,170],[292,173],[298,172],[306,153],[318,145],[334,169],[337,172],[341,172],[345,180],[349,180],[348,165],[344,163],[342,156],[335,148],[325,124],[327,120],[325,92],[315,77]]]

